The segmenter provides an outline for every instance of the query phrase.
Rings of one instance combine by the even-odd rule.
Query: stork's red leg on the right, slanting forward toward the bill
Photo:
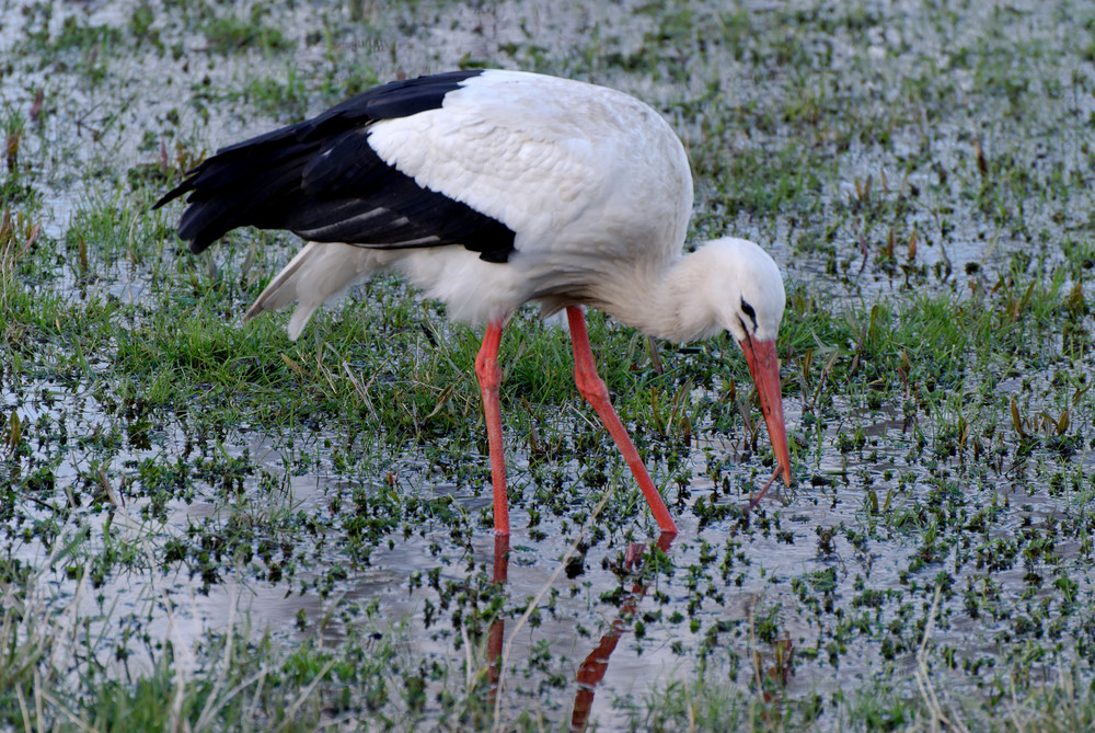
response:
[[[635,444],[631,442],[626,428],[616,416],[612,403],[609,402],[609,390],[597,375],[597,364],[593,362],[593,352],[589,347],[589,332],[586,331],[586,314],[581,308],[572,306],[566,309],[566,318],[570,323],[570,341],[574,343],[574,383],[577,385],[581,396],[593,406],[597,414],[601,416],[601,422],[608,428],[609,435],[615,440],[616,447],[623,454],[624,460],[631,467],[631,472],[638,481],[638,488],[643,490],[654,518],[658,520],[658,527],[662,532],[669,535],[677,534],[677,525],[669,516],[666,503],[661,501],[661,494],[650,481],[650,474],[646,472],[646,466],[635,450]]]

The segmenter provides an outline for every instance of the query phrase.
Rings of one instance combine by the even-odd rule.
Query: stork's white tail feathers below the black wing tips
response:
[[[349,244],[309,242],[281,268],[243,316],[246,323],[265,311],[285,308],[293,300],[289,339],[296,341],[320,306],[337,300],[357,283],[382,266],[384,253]]]

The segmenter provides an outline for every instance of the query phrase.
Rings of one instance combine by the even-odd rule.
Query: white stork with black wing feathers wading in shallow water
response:
[[[528,301],[544,313],[566,309],[577,388],[664,532],[677,527],[597,375],[584,306],[673,342],[728,330],[757,385],[776,473],[791,483],[775,352],[780,270],[741,239],[683,253],[688,158],[666,121],[632,96],[502,70],[396,81],[219,150],[155,206],[184,194],[178,236],[193,252],[245,225],[308,241],[244,322],[296,300],[295,340],[321,305],[394,270],[445,301],[449,317],[486,324],[475,371],[498,535],[509,534],[498,344]]]

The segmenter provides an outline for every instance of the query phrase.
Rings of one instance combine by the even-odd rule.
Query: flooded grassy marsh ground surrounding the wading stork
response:
[[[1095,4],[0,0],[0,49],[4,728],[1091,723]],[[742,516],[772,459],[733,341],[595,317],[679,517],[655,549],[522,313],[497,583],[476,334],[389,278],[298,343],[241,327],[297,242],[193,256],[149,210],[220,146],[474,66],[659,108],[689,242],[784,267],[793,491]]]

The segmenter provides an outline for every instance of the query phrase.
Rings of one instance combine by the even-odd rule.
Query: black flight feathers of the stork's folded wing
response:
[[[438,108],[480,71],[397,81],[296,125],[221,148],[154,208],[184,194],[178,236],[201,252],[242,226],[288,229],[319,242],[362,247],[461,244],[505,262],[514,231],[466,204],[424,188],[377,156],[368,128]]]

